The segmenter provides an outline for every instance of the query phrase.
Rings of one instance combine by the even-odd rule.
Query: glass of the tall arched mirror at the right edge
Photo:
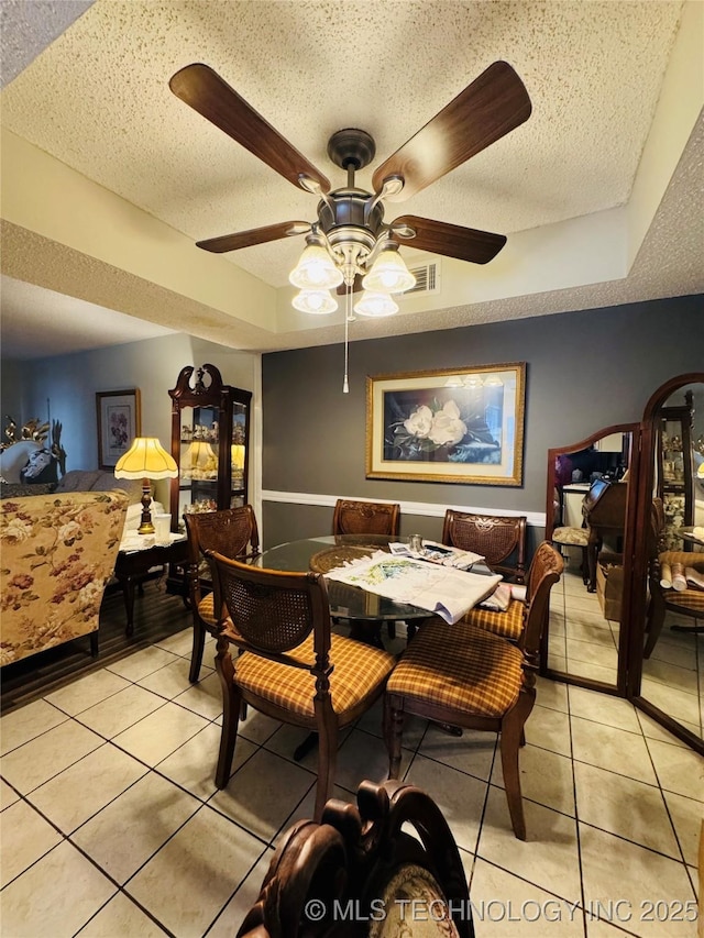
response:
[[[698,748],[704,740],[704,375],[666,391],[644,429],[644,477],[662,498],[662,536],[647,567],[639,705]],[[649,472],[645,472],[648,460]],[[650,481],[651,477],[651,481]],[[647,495],[647,493],[645,493]],[[640,501],[640,499],[639,499]],[[638,611],[638,606],[635,606]],[[636,670],[638,661],[636,660]]]

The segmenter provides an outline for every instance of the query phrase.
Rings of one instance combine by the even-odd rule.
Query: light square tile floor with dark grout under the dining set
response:
[[[231,938],[282,832],[310,817],[315,755],[251,713],[213,783],[219,686],[186,630],[0,721],[3,938]],[[206,650],[212,661],[212,644]],[[515,839],[488,733],[413,720],[403,771],[460,847],[477,938],[695,936],[703,760],[625,700],[539,680]],[[345,735],[336,794],[382,780],[381,707]]]

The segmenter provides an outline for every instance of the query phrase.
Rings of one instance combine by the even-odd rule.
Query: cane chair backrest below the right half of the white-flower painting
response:
[[[522,583],[526,575],[526,521],[525,515],[472,515],[448,508],[442,543],[482,554],[492,570],[514,574]],[[512,554],[516,555],[515,564],[504,564]]]

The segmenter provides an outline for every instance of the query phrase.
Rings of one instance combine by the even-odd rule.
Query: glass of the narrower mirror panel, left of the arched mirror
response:
[[[625,693],[622,595],[635,424],[548,452],[546,538],[564,559],[550,598],[541,671]]]

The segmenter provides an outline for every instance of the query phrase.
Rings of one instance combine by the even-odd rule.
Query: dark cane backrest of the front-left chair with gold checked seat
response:
[[[265,570],[213,551],[208,551],[207,558],[213,573],[215,608],[229,617],[233,644],[307,667],[312,674],[327,671],[330,604],[322,574]],[[219,626],[224,626],[224,620]],[[301,663],[286,654],[311,632],[316,653],[312,669],[310,662]]]

